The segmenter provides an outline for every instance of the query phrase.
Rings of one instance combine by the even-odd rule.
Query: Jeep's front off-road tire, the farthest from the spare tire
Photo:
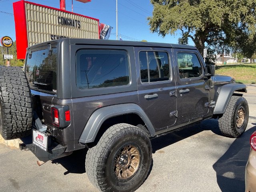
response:
[[[243,121],[237,124],[239,114],[244,114]],[[218,119],[220,131],[225,136],[238,138],[246,130],[249,119],[249,107],[246,99],[240,96],[232,96],[225,113]]]

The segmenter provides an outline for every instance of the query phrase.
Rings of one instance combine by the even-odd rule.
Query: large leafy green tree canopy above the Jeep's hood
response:
[[[159,35],[181,31],[180,44],[191,38],[203,54],[209,46],[242,50],[246,56],[255,52],[256,0],[151,0],[154,6],[148,18],[150,30]],[[225,45],[225,46],[224,46]]]

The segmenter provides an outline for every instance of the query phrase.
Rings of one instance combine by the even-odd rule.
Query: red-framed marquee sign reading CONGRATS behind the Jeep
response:
[[[14,2],[13,10],[18,59],[25,59],[28,46],[49,40],[99,39],[98,19],[24,0]]]

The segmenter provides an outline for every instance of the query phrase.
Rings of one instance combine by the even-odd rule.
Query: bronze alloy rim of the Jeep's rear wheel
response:
[[[134,176],[140,165],[140,152],[133,145],[126,145],[114,158],[114,172],[118,179],[127,180]]]

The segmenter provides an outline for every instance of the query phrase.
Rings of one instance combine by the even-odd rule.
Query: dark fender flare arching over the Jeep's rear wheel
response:
[[[86,123],[84,130],[80,136],[80,143],[90,143],[94,142],[100,127],[103,122],[108,118],[119,116],[123,114],[135,113],[144,121],[146,124],[150,136],[155,136],[154,126],[150,122],[146,113],[138,106],[137,104],[128,103],[128,104],[118,104],[113,106],[106,106],[100,108],[90,116],[88,122]]]

